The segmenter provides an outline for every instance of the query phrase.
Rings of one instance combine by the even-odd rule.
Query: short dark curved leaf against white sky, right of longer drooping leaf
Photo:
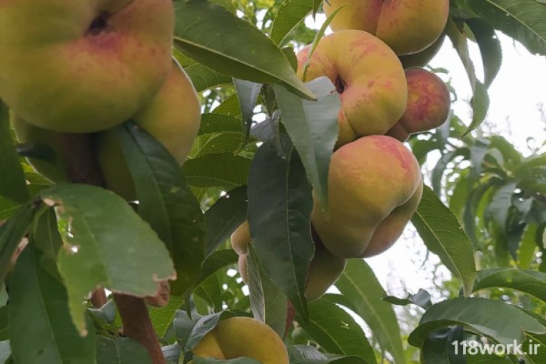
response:
[[[465,23],[470,27],[470,30],[472,30],[477,45],[480,47],[485,76],[483,83],[486,88],[489,88],[499,73],[500,64],[502,64],[500,41],[495,34],[495,30],[492,29],[486,21],[473,18],[466,19]]]

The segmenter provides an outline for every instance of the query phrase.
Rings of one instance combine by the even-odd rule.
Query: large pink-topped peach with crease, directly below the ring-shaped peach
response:
[[[340,258],[385,251],[418,206],[423,179],[418,161],[390,136],[364,136],[333,153],[330,208],[318,198],[311,215],[324,246]]]

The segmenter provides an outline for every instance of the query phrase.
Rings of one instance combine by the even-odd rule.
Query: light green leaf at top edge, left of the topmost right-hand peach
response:
[[[313,0],[285,0],[278,7],[271,27],[271,39],[275,44],[284,44],[286,37],[313,10]]]

